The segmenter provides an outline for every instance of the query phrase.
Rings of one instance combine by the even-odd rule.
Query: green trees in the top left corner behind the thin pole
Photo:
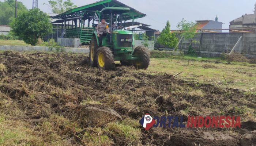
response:
[[[27,8],[17,1],[17,15],[26,12]],[[15,0],[0,1],[0,25],[9,25],[15,18]]]

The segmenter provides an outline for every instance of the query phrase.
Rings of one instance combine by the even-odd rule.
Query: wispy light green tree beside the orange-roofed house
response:
[[[177,28],[181,30],[181,36],[184,36],[184,39],[192,39],[196,35],[196,24],[184,18],[177,24]]]

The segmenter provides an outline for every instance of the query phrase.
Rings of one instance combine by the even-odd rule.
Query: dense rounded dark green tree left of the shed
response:
[[[35,45],[38,38],[52,33],[50,18],[40,9],[23,12],[11,23],[11,31],[25,43]]]

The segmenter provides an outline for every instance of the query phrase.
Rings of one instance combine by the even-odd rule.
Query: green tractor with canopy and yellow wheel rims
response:
[[[99,46],[97,32],[93,33],[90,41],[90,64],[100,69],[110,70],[114,67],[114,61],[120,61],[121,65],[134,65],[136,69],[147,69],[150,62],[150,54],[144,46],[134,48],[133,32],[124,30],[122,26],[122,14],[129,12],[130,8],[106,7],[101,14],[109,16],[110,34],[104,34],[102,46]],[[114,30],[112,27],[113,15],[120,16],[120,26]]]

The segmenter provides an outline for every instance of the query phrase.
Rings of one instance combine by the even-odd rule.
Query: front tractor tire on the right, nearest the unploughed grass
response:
[[[147,69],[150,62],[150,53],[144,46],[138,46],[133,51],[133,55],[139,56],[139,60],[134,60],[133,65],[136,69]]]

